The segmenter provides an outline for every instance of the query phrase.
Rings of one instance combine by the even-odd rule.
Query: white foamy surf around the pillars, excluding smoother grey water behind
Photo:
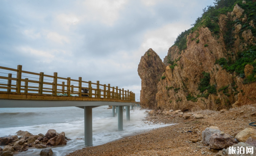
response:
[[[172,124],[151,124],[144,123],[142,119],[147,115],[144,111],[139,110],[138,108],[130,111],[130,122],[126,121],[126,112],[123,112],[123,131],[117,131],[118,123],[117,117],[112,116],[112,109],[106,109],[107,106],[101,106],[98,108],[93,108],[93,146],[102,145],[107,142],[111,142],[114,140],[121,139],[127,136],[133,136],[138,133],[143,133],[145,131],[149,131],[154,128],[169,126]],[[69,109],[69,108],[66,108]],[[67,112],[72,112],[74,115],[65,115],[65,113],[60,113],[54,110],[59,115],[58,118],[55,119],[54,123],[51,123],[51,115],[50,114],[39,114],[41,116],[41,120],[48,120],[48,124],[38,124],[42,122],[39,120],[35,121],[34,125],[28,124],[29,126],[12,126],[12,127],[0,127],[0,137],[7,136],[9,134],[15,135],[15,133],[19,130],[28,131],[32,134],[46,134],[48,129],[55,129],[57,133],[65,132],[66,137],[72,139],[67,142],[67,145],[51,147],[54,152],[54,156],[64,156],[67,153],[70,153],[74,150],[84,148],[84,115],[83,109],[71,108],[70,110],[66,110]],[[65,110],[62,108],[62,111]],[[81,113],[82,110],[82,113]],[[16,111],[16,110],[13,110]],[[30,109],[30,112],[33,109]],[[76,113],[77,111],[77,113]],[[1,110],[0,110],[1,113]],[[6,114],[5,114],[6,115]],[[72,118],[72,119],[70,119]],[[40,117],[36,117],[36,119],[40,119]],[[2,120],[2,119],[1,119]],[[8,119],[4,119],[8,120]],[[59,123],[57,123],[59,122]],[[24,123],[26,123],[24,121]],[[45,122],[43,122],[45,123]],[[32,123],[33,124],[33,123]],[[76,139],[82,138],[82,139]],[[39,155],[42,149],[37,148],[28,148],[28,151],[19,152],[16,156],[32,156]]]

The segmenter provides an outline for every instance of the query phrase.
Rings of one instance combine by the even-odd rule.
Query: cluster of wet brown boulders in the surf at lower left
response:
[[[0,137],[0,156],[13,156],[17,152],[27,151],[29,147],[47,148],[58,145],[66,145],[70,140],[65,137],[65,133],[57,133],[55,129],[49,129],[47,133],[33,135],[28,131],[17,131],[15,136]],[[51,149],[45,149],[40,152],[40,156],[52,156]]]

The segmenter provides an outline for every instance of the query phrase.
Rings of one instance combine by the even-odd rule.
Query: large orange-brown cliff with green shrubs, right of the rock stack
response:
[[[239,3],[244,9],[235,4],[217,19],[206,12],[183,38],[177,37],[157,84],[158,108],[220,110],[256,102],[256,30],[247,16],[255,14],[250,12],[255,4],[245,3]]]

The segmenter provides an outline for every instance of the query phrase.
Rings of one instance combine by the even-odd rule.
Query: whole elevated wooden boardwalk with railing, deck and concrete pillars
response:
[[[0,108],[42,108],[76,106],[84,109],[85,145],[92,145],[92,108],[111,105],[118,108],[118,129],[123,130],[123,106],[130,120],[130,106],[135,105],[135,94],[129,90],[100,84],[34,73],[0,66]],[[114,113],[113,113],[114,114]]]

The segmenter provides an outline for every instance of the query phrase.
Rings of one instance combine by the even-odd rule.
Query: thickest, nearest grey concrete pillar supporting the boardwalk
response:
[[[92,107],[84,106],[84,145],[92,146]]]

